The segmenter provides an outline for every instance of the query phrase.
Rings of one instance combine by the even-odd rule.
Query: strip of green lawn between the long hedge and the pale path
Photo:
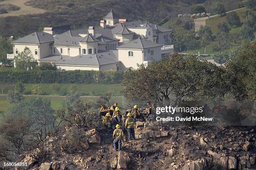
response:
[[[119,95],[119,91],[123,89],[120,84],[59,84],[60,90],[55,94],[49,87],[51,84],[23,84],[25,90],[22,94],[30,95],[33,85],[40,85],[42,87],[42,95],[66,95],[70,85],[76,85],[80,96],[82,95],[101,95],[106,92],[113,92],[114,96]],[[6,88],[3,93],[7,94],[12,87]]]

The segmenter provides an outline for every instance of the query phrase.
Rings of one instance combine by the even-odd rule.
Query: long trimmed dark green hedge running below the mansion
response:
[[[123,80],[123,71],[54,71],[54,70],[0,70],[0,82],[4,83],[100,83],[115,84]]]

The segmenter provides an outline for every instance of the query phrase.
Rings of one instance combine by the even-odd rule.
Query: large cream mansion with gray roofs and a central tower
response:
[[[120,19],[112,9],[100,26],[54,35],[53,28],[14,40],[13,60],[28,47],[38,63],[59,70],[126,70],[159,61],[173,52],[173,30],[141,20]]]

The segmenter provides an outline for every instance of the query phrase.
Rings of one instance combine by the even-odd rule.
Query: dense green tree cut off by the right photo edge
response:
[[[226,63],[231,92],[237,100],[256,100],[256,42],[248,42],[235,60]]]

